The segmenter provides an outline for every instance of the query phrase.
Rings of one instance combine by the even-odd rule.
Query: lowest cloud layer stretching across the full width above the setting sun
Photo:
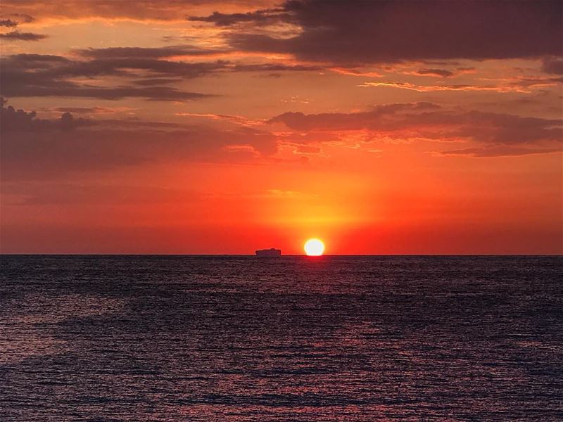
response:
[[[362,139],[429,139],[467,144],[448,148],[443,155],[526,155],[561,151],[559,120],[521,117],[475,110],[449,110],[433,103],[398,103],[358,113],[284,113],[250,127],[238,120],[231,127],[146,120],[91,120],[69,110],[58,119],[36,113],[1,109],[2,178],[58,179],[76,172],[115,170],[154,162],[239,161],[267,157],[279,145],[293,145],[296,153],[320,153],[323,142]],[[213,123],[215,120],[209,120]],[[286,129],[279,132],[276,125]]]

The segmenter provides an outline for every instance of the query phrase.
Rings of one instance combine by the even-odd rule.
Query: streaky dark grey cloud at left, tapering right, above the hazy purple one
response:
[[[166,53],[160,49],[89,49],[81,51],[96,58],[73,59],[40,54],[15,54],[2,60],[0,94],[17,96],[66,96],[117,100],[127,97],[155,101],[188,101],[209,97],[208,94],[183,91],[162,85],[182,82],[221,72],[282,72],[320,70],[311,65],[283,65],[275,63],[238,64],[226,60],[212,62],[180,62],[160,60]],[[148,51],[147,51],[148,50]],[[148,53],[153,57],[141,57]],[[109,55],[108,55],[109,54]],[[114,57],[110,57],[110,56]],[[132,56],[127,56],[132,55]],[[172,54],[173,55],[173,54]],[[81,83],[79,78],[89,78]],[[91,78],[106,78],[104,86],[96,86]],[[121,82],[130,79],[129,83]],[[113,81],[114,86],[107,82]]]

